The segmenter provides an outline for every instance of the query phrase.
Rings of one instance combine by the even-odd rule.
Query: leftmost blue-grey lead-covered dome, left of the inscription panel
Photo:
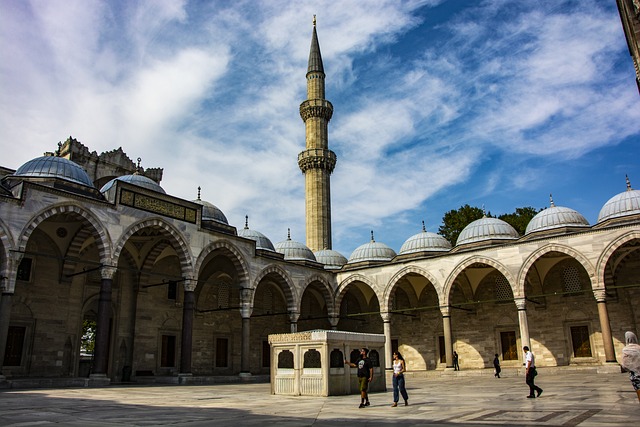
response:
[[[13,176],[60,178],[87,187],[94,187],[87,172],[79,164],[64,157],[42,156],[29,160],[20,166]]]

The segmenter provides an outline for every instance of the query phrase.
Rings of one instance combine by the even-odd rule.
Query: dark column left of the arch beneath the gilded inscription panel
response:
[[[111,323],[111,288],[117,268],[103,266],[100,269],[100,299],[96,321],[96,343],[91,377],[106,377],[109,365],[109,329]]]

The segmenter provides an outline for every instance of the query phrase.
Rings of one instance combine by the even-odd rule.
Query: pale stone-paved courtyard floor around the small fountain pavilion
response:
[[[392,392],[359,396],[269,394],[269,384],[109,386],[0,391],[2,426],[633,426],[640,403],[627,374],[538,376],[527,399],[521,376],[407,378],[409,406]]]

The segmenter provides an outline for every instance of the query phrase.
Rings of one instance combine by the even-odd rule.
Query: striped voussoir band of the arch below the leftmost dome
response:
[[[100,263],[111,265],[111,238],[106,228],[102,226],[102,223],[92,212],[81,206],[68,203],[50,206],[36,213],[20,233],[17,245],[18,251],[24,252],[26,250],[31,234],[40,224],[60,214],[71,214],[79,217],[82,220],[83,227],[86,227],[90,231],[90,235],[93,236],[96,241]]]

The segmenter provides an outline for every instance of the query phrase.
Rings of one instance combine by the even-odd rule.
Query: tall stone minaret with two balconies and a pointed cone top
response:
[[[307,69],[307,100],[300,104],[305,124],[306,150],[298,154],[298,166],[305,175],[307,247],[312,251],[331,249],[330,175],[336,154],[329,150],[327,125],[333,105],[324,99],[324,67],[313,16],[313,36]]]

